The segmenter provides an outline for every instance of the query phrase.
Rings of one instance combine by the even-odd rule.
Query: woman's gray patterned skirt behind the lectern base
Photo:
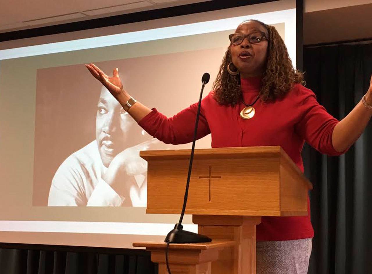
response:
[[[306,274],[312,238],[256,243],[256,274]]]

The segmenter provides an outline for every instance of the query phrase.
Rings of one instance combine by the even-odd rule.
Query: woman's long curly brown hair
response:
[[[284,97],[295,83],[304,84],[304,75],[292,66],[287,48],[278,31],[273,26],[266,25],[258,20],[247,21],[260,23],[269,34],[266,68],[259,92],[260,100],[264,102],[275,101],[277,98]],[[231,52],[229,45],[219,67],[217,78],[213,83],[214,98],[221,105],[235,105],[241,101],[240,74],[231,75],[228,73],[227,66],[230,63]]]

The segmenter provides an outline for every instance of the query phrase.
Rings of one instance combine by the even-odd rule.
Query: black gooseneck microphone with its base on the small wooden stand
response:
[[[202,83],[203,84],[202,84],[202,89],[200,91],[198,111],[196,113],[194,139],[192,141],[191,157],[190,157],[190,163],[189,163],[189,172],[187,174],[187,182],[186,182],[186,189],[185,189],[185,197],[183,199],[182,212],[181,212],[181,215],[180,215],[180,220],[174,226],[174,229],[171,230],[168,233],[167,237],[164,240],[164,242],[168,243],[168,245],[169,245],[169,243],[206,243],[206,242],[211,242],[212,241],[212,239],[207,237],[207,236],[204,236],[204,235],[201,235],[201,234],[198,234],[198,233],[189,232],[189,231],[186,231],[186,230],[182,229],[183,228],[182,227],[182,220],[183,220],[183,215],[185,215],[187,195],[189,193],[192,161],[193,161],[193,158],[194,158],[194,151],[195,151],[196,133],[198,132],[200,105],[201,105],[201,101],[202,101],[204,86],[209,82],[210,77],[211,76],[209,75],[209,73],[204,73],[203,77],[202,77]]]

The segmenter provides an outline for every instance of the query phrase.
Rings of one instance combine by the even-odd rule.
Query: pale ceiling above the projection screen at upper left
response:
[[[0,0],[0,33],[205,0]],[[3,3],[1,3],[3,2]]]

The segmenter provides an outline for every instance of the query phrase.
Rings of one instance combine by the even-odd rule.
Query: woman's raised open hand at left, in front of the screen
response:
[[[94,76],[94,78],[100,81],[102,85],[104,85],[109,90],[113,97],[119,100],[118,97],[123,92],[123,84],[119,77],[118,68],[114,69],[112,77],[109,77],[93,63],[85,64],[85,66],[87,67],[89,72]]]

